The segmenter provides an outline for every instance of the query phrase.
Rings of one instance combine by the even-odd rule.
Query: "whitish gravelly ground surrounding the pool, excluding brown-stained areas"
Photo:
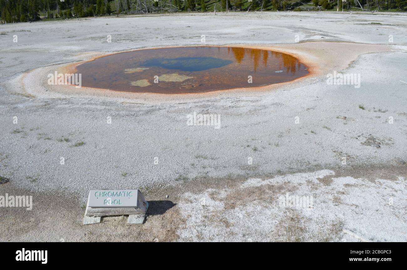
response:
[[[309,222],[318,224],[322,213],[323,217],[329,216],[326,222],[341,224],[335,228],[346,226],[374,241],[406,241],[403,231],[407,228],[407,83],[401,82],[407,81],[406,26],[407,17],[403,14],[332,12],[131,16],[1,25],[0,33],[4,35],[0,35],[0,175],[11,181],[0,185],[0,191],[52,194],[50,200],[63,191],[64,196],[75,198],[79,207],[85,203],[90,189],[143,187],[149,194],[148,189],[157,191],[175,186],[180,196],[174,199],[179,203],[175,207],[186,219],[177,231],[179,240],[340,241],[344,237],[336,229],[332,230],[337,234],[331,239],[307,235],[305,231],[302,237],[298,238],[296,234],[293,235],[297,238],[287,237],[286,230],[259,238],[258,235],[271,226],[266,215],[270,214],[271,220],[279,220],[284,213],[267,205],[261,208],[258,216],[260,219],[264,215],[264,218],[256,222],[261,225],[259,233],[250,235],[251,226],[245,227],[247,223],[241,220],[230,220],[230,215],[226,214],[225,219],[236,228],[234,236],[223,234],[222,226],[216,227],[218,232],[214,234],[212,230],[202,232],[197,217],[201,204],[187,199],[201,198],[210,191],[194,193],[184,185],[191,179],[200,182],[234,177],[274,179],[276,173],[335,171],[335,167],[349,167],[352,178],[346,175],[335,178],[329,187],[302,184],[303,188],[296,192],[314,194],[314,204],[326,202],[318,203],[318,208],[314,205],[319,209],[317,211],[295,212],[295,215],[306,216]],[[18,35],[17,43],[13,43],[13,35]],[[112,35],[111,43],[106,42],[107,35]],[[392,52],[364,54],[349,63],[345,70],[337,70],[361,73],[359,89],[330,86],[326,84],[326,78],[320,76],[261,95],[158,104],[123,103],[96,97],[28,98],[13,91],[19,87],[16,78],[35,68],[68,64],[97,53],[132,48],[201,45],[201,35],[206,35],[210,45],[272,46],[294,43],[295,35],[298,35],[300,42],[387,44]],[[393,43],[389,43],[389,35],[393,36]],[[338,53],[346,54],[348,50],[352,50],[352,43]],[[35,83],[38,82],[33,81]],[[186,115],[194,111],[221,114],[221,129],[186,126]],[[13,116],[18,117],[18,124],[13,124]],[[112,117],[111,125],[106,124],[107,116]],[[299,124],[294,123],[295,116],[299,116]],[[394,119],[393,124],[388,123],[389,117]],[[65,137],[70,142],[58,141]],[[77,141],[85,144],[72,147]],[[65,158],[65,165],[59,164],[61,156]],[[347,157],[346,166],[341,164],[344,156]],[[158,165],[154,165],[154,157],[158,157]],[[253,165],[247,164],[248,157],[253,158]],[[380,167],[382,171],[388,167],[388,179],[375,178],[374,184],[359,180],[362,176],[354,174],[358,173],[357,168],[364,168],[360,169],[363,175],[369,166]],[[401,168],[398,171],[401,173],[395,175],[390,166]],[[395,179],[397,182],[391,182]],[[363,183],[349,193],[339,194],[338,205],[326,194],[340,191],[345,182],[354,184],[354,181]],[[383,186],[391,188],[383,189]],[[230,192],[220,190],[223,195]],[[150,198],[159,199],[157,194],[162,195],[151,191]],[[363,195],[369,195],[365,198],[373,200],[372,204],[360,202]],[[399,203],[392,211],[387,211],[389,206],[385,206],[389,197],[396,198]],[[220,202],[213,203],[215,210],[222,208]],[[365,205],[367,209],[353,213],[352,204]],[[263,205],[263,202],[255,201],[249,207],[256,205]],[[44,206],[38,205],[41,207]],[[369,220],[376,208],[382,216],[374,216],[374,220],[394,221],[389,227],[391,230],[383,230],[386,224]],[[241,211],[241,208],[235,211]],[[350,212],[352,214],[347,215]],[[17,212],[13,215],[13,209],[7,213],[0,209],[0,215],[13,219]],[[36,212],[34,208],[26,215],[35,218],[43,212]],[[10,220],[8,222],[11,224]],[[65,235],[72,234],[71,230],[85,230],[79,222],[66,228]],[[48,228],[48,234],[44,234],[38,224],[26,226],[30,227],[32,235],[22,237],[16,232],[12,239],[1,234],[0,239],[9,241],[20,237],[53,241],[59,239],[53,238],[55,231],[63,230],[61,224]],[[327,231],[322,227],[321,230]],[[200,231],[201,238],[191,230]],[[298,231],[303,230],[298,227]],[[217,233],[224,238],[217,237]],[[75,239],[78,240],[77,237],[72,240]],[[111,239],[123,240],[120,237]]]

